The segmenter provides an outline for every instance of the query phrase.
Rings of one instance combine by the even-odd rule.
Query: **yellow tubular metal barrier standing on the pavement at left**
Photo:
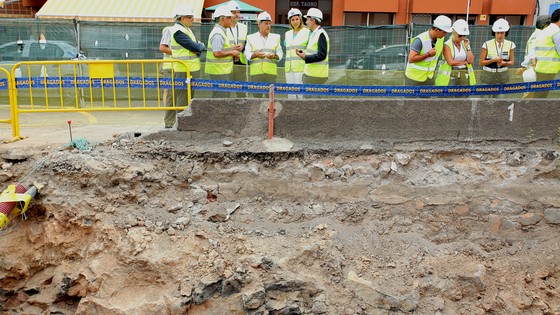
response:
[[[163,60],[65,60],[20,62],[8,74],[14,140],[21,139],[19,115],[41,112],[183,110],[191,102],[188,66],[186,79],[160,74]],[[0,68],[7,72],[5,69]],[[168,89],[172,103],[164,104]],[[187,104],[175,104],[181,90]]]

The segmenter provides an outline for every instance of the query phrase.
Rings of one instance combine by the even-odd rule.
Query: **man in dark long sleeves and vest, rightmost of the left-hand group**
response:
[[[329,79],[330,39],[321,27],[323,12],[316,8],[307,10],[305,24],[311,30],[305,50],[299,49],[297,55],[305,61],[303,67],[304,84],[324,84]]]

